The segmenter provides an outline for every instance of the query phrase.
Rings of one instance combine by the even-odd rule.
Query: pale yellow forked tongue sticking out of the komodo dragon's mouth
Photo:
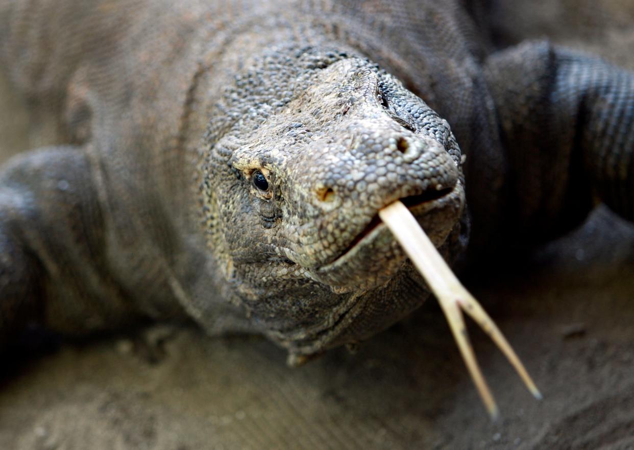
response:
[[[378,211],[381,220],[392,231],[396,240],[403,246],[403,250],[410,260],[423,275],[425,281],[436,295],[445,317],[449,322],[453,337],[458,343],[460,353],[469,368],[475,387],[482,397],[482,401],[493,419],[498,416],[498,407],[489,390],[480,367],[475,360],[474,350],[471,347],[462,310],[469,314],[486,334],[496,343],[508,361],[515,367],[519,376],[524,380],[526,387],[537,399],[541,399],[538,388],[526,372],[524,365],[519,360],[513,348],[496,326],[495,322],[486,314],[480,303],[460,284],[443,257],[438,253],[434,244],[429,240],[418,222],[411,215],[406,206],[396,201]]]

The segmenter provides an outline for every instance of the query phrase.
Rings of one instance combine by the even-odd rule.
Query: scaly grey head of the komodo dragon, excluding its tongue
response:
[[[217,107],[202,215],[254,327],[310,355],[375,334],[429,296],[377,215],[401,199],[445,255],[465,242],[460,149],[423,100],[363,57],[275,48]]]

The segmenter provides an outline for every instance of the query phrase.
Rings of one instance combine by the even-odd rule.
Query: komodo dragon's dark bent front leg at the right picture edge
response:
[[[598,201],[634,220],[634,72],[533,42],[490,56],[486,77],[507,152],[510,237],[544,241]]]

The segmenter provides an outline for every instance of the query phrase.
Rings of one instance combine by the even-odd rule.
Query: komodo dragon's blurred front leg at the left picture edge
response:
[[[0,171],[0,347],[27,324],[112,328],[131,308],[104,269],[103,221],[81,147],[14,157]]]

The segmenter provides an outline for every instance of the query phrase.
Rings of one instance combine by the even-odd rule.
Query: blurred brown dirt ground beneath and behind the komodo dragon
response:
[[[548,34],[634,68],[631,0],[528,3],[500,6],[500,39]],[[510,20],[513,8],[521,20]],[[0,124],[13,128],[15,117]],[[634,226],[600,208],[573,234],[501,266],[465,284],[544,399],[472,326],[496,422],[428,301],[356,354],[334,350],[299,369],[261,338],[193,328],[65,343],[0,382],[0,449],[634,449]]]

